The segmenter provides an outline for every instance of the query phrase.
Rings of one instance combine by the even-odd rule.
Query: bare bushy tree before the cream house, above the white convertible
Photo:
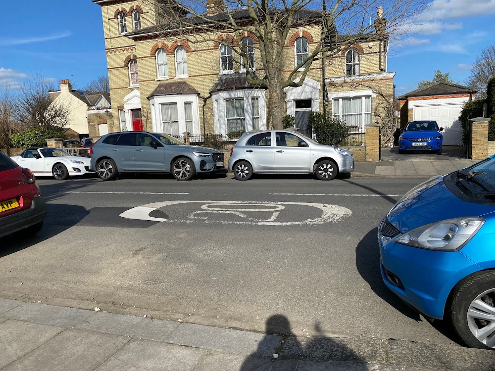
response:
[[[19,91],[15,107],[22,124],[28,128],[40,128],[47,134],[57,133],[54,129],[61,130],[69,122],[69,109],[61,102],[52,102],[49,91],[53,91],[53,85],[34,76]]]

